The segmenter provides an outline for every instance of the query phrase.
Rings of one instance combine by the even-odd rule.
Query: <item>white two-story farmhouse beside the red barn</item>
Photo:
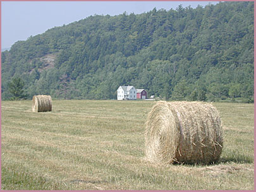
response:
[[[118,100],[137,99],[137,91],[133,86],[119,86],[116,92]]]

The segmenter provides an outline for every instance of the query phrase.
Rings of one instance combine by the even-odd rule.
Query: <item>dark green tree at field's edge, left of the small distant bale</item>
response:
[[[27,95],[24,94],[24,82],[20,77],[14,77],[9,83],[9,93],[13,95],[11,100],[26,99]]]

